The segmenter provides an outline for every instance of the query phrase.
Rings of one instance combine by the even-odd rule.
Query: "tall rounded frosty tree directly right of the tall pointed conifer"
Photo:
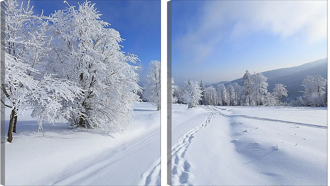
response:
[[[256,105],[265,104],[265,96],[268,92],[267,77],[263,76],[262,73],[253,73],[251,75],[252,87],[253,87],[253,99]]]

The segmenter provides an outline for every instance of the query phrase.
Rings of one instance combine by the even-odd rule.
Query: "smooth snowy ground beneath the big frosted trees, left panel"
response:
[[[20,116],[13,143],[5,144],[5,184],[144,185],[150,167],[160,158],[156,110],[151,104],[136,103],[137,123],[124,134],[113,135],[102,129],[70,130],[65,122],[44,124],[38,132],[36,121],[28,114]],[[8,119],[6,115],[6,131]]]

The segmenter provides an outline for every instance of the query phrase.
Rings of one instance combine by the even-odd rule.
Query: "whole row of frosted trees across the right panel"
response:
[[[319,74],[306,76],[301,86],[304,95],[286,102],[288,96],[286,86],[275,84],[272,92],[268,92],[267,77],[262,73],[250,74],[246,70],[242,78],[242,86],[238,83],[218,84],[207,87],[203,83],[184,82],[183,87],[176,86],[172,81],[172,103],[187,104],[188,108],[197,105],[216,106],[326,106],[327,80]]]

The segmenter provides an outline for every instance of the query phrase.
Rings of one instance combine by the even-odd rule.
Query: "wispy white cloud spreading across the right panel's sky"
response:
[[[327,37],[327,1],[324,0],[208,1],[198,14],[199,19],[187,25],[194,29],[173,42],[174,48],[182,50],[182,58],[195,63],[209,56],[221,39],[253,31],[280,35],[283,39],[302,34],[307,42]]]

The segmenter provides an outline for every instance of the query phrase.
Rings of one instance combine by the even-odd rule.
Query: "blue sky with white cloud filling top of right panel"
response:
[[[327,57],[327,1],[172,1],[172,77],[230,81]]]

